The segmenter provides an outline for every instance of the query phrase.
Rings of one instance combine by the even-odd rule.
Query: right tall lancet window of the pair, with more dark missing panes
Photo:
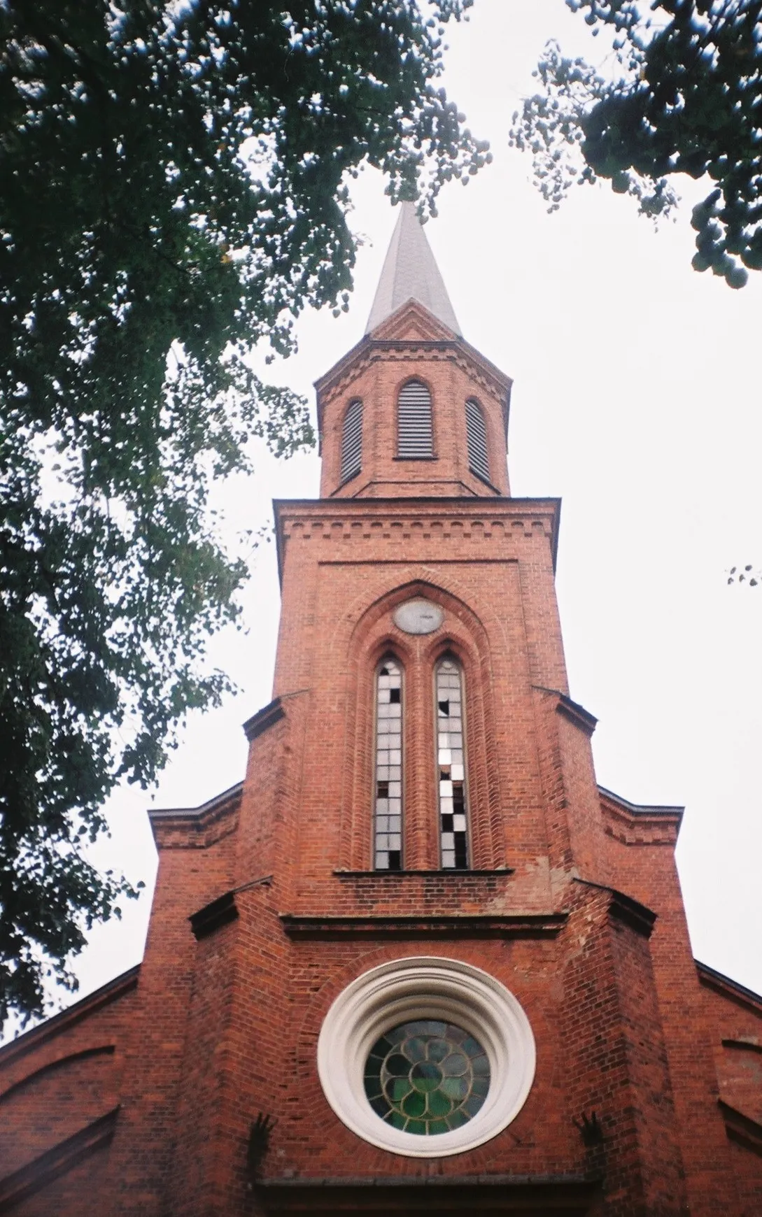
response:
[[[463,673],[452,656],[436,669],[439,848],[443,870],[469,865],[466,770],[463,733]]]

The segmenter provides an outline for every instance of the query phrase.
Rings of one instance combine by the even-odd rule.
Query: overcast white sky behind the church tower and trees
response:
[[[695,954],[762,991],[762,588],[725,576],[762,562],[762,274],[733,292],[690,269],[690,207],[706,192],[691,181],[657,232],[605,186],[547,214],[506,133],[550,37],[594,62],[605,52],[564,0],[476,0],[449,30],[448,92],[494,163],[467,190],[446,189],[427,235],[464,335],[515,378],[514,494],[564,500],[558,593],[571,694],[599,718],[598,780],[633,802],[685,804],[678,864]],[[375,173],[353,197],[364,245],[349,313],[304,316],[298,357],[271,374],[310,400],[363,333],[397,215]],[[314,454],[257,454],[256,479],[220,495],[230,527],[258,527],[273,497],[316,495],[318,476]],[[250,633],[212,647],[240,692],[189,722],[157,807],[196,806],[243,774],[240,724],[270,699],[271,550],[246,594]],[[150,891],[149,801],[112,798],[99,857]],[[79,996],[140,959],[149,913],[146,894],[93,933]]]

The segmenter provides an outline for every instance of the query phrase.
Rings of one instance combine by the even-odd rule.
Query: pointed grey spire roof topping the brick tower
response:
[[[365,333],[375,330],[409,299],[418,301],[449,330],[460,335],[439,268],[415,214],[415,203],[400,203]]]

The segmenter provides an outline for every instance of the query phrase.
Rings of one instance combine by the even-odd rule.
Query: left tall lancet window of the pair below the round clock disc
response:
[[[382,660],[376,674],[375,868],[402,870],[402,668]]]

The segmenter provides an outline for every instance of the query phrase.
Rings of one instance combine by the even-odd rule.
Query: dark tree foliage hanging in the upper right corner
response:
[[[542,91],[514,116],[511,144],[534,156],[555,209],[575,183],[607,178],[643,213],[669,212],[674,174],[716,185],[694,208],[695,270],[743,287],[762,268],[762,0],[566,0],[593,33],[612,33],[604,77],[556,43]]]

